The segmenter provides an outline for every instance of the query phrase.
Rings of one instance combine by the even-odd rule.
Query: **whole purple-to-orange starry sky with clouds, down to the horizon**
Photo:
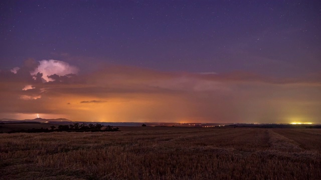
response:
[[[319,0],[2,0],[0,118],[321,122]]]

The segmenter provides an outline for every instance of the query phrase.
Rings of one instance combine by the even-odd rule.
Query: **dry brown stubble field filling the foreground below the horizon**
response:
[[[321,179],[321,129],[124,129],[2,133],[0,179]]]

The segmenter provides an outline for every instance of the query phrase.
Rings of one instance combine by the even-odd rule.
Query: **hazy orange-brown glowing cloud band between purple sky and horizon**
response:
[[[321,83],[315,78],[163,72],[110,64],[90,73],[66,76],[77,68],[66,62],[60,65],[66,65],[64,73],[51,76],[49,82],[21,74],[25,67],[16,68],[17,73],[3,71],[0,115],[25,119],[39,113],[42,118],[74,121],[220,123],[289,123],[296,120],[290,118],[293,116],[319,123],[321,116]]]

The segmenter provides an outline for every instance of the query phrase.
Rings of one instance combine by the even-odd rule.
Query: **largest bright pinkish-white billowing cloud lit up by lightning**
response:
[[[78,68],[75,66],[70,65],[67,62],[61,60],[40,60],[38,67],[31,72],[31,75],[36,75],[38,72],[42,73],[44,78],[47,82],[54,81],[53,78],[48,77],[50,75],[66,75],[66,74],[77,74]]]

